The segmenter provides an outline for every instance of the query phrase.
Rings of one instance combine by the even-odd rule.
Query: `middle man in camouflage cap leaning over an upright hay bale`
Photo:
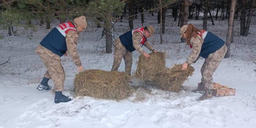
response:
[[[111,71],[117,71],[124,58],[125,73],[131,75],[132,69],[132,52],[137,51],[144,57],[148,58],[148,55],[141,47],[144,45],[150,51],[157,53],[157,51],[150,45],[147,38],[152,37],[155,33],[153,26],[141,27],[124,33],[119,36],[114,42],[114,62]]]

